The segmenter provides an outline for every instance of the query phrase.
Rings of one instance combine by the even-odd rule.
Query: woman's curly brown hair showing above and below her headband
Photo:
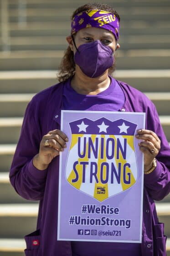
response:
[[[101,3],[89,3],[86,5],[82,5],[78,7],[72,14],[71,20],[73,17],[82,11],[88,11],[88,10],[103,10],[103,11],[108,11],[112,14],[114,14],[118,20],[120,21],[120,16],[118,13],[113,9],[113,7],[106,5],[106,4],[101,4]],[[112,67],[108,69],[109,75],[113,73],[115,70],[115,62]],[[59,82],[65,82],[68,78],[72,77],[75,74],[75,62],[74,62],[74,53],[68,46],[67,50],[64,53],[64,56],[62,58],[61,64],[59,66],[59,72],[57,75],[57,78]]]

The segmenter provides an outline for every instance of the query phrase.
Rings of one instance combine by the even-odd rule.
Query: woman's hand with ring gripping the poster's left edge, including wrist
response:
[[[67,135],[61,130],[53,130],[42,137],[39,154],[33,158],[33,165],[38,170],[45,170],[54,157],[66,148]]]

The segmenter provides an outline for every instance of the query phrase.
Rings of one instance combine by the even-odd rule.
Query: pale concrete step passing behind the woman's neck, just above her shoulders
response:
[[[140,91],[170,91],[170,69],[116,70],[113,76]],[[56,70],[1,71],[0,93],[36,93],[56,84],[56,77]]]

